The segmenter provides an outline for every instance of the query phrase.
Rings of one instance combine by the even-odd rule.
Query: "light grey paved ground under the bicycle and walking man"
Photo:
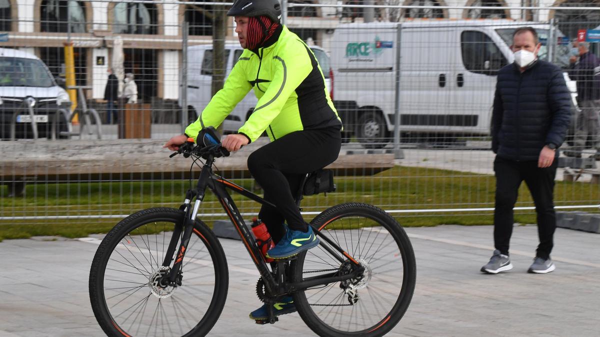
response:
[[[547,275],[526,273],[535,226],[515,227],[515,268],[483,275],[491,226],[407,228],[417,258],[415,296],[389,336],[599,336],[600,235],[559,228]],[[97,240],[0,243],[0,336],[103,336],[88,297]],[[229,295],[211,336],[314,335],[298,314],[258,326],[258,273],[241,242],[221,239],[230,266]],[[235,267],[233,267],[235,266]]]

